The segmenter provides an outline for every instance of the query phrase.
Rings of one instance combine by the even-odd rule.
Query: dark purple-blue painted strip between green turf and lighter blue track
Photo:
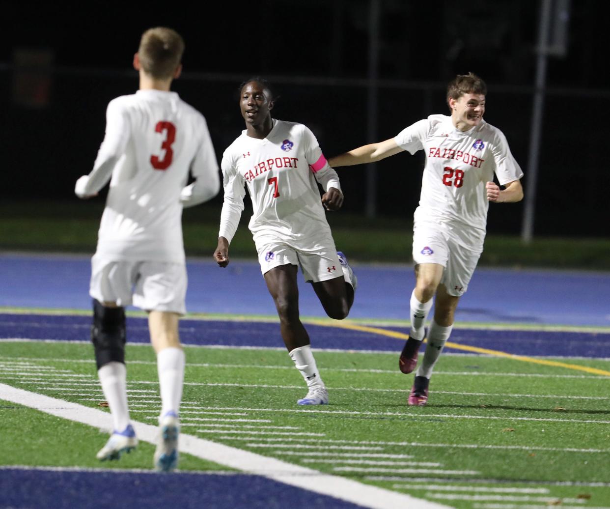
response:
[[[188,345],[282,347],[278,323],[188,320],[180,322],[181,341]],[[0,314],[0,338],[88,341],[91,318],[40,314]],[[314,348],[400,352],[401,339],[382,334],[307,324]],[[407,334],[406,328],[390,327]],[[127,341],[148,343],[145,318],[127,319]],[[610,358],[610,333],[454,329],[451,341],[528,356]],[[451,348],[446,348],[451,352]],[[454,350],[455,351],[455,350]]]

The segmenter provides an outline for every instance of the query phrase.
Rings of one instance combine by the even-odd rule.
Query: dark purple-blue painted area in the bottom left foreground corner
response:
[[[32,489],[35,486],[35,489]],[[0,469],[0,507],[52,509],[357,509],[258,475]]]

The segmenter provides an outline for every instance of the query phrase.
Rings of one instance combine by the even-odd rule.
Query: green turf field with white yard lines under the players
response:
[[[445,354],[432,378],[428,406],[412,408],[406,406],[406,397],[413,375],[398,372],[395,355],[318,351],[318,367],[331,400],[328,406],[304,408],[295,405],[305,392],[303,379],[280,348],[185,350],[182,424],[196,424],[184,426],[185,433],[456,508],[501,503],[544,507],[558,499],[563,500],[564,506],[610,505],[610,377],[506,358]],[[610,370],[610,361],[604,359],[557,360]],[[90,345],[2,342],[0,381],[100,408],[102,396],[96,386],[87,389],[93,401],[81,400],[74,394],[78,386],[45,388],[23,375],[10,375],[5,370],[7,361],[68,370],[63,381],[79,374],[86,375],[87,381],[95,381]],[[26,369],[27,364],[23,366]],[[148,345],[130,345],[127,366],[129,389],[158,394],[154,354]],[[130,396],[132,405],[137,402],[135,394],[138,393]],[[158,403],[142,404],[132,406],[132,418],[154,424]],[[191,407],[197,408],[189,410]],[[220,412],[247,415],[234,417]],[[5,443],[12,444],[13,435],[23,436],[23,431],[35,443],[27,448],[27,455],[20,455],[17,446],[10,446],[3,455],[4,464],[96,464],[91,458],[105,438],[98,430],[12,404],[2,405],[1,414]],[[192,417],[270,422],[189,421]],[[70,453],[62,461],[54,461],[52,452],[65,444],[62,437],[66,435],[77,438],[66,446]],[[350,449],[354,447],[358,449]],[[379,458],[371,454],[412,457]],[[152,446],[142,444],[119,465],[148,468],[151,456]],[[409,464],[412,462],[438,465]],[[182,461],[184,469],[214,467],[196,458]],[[481,488],[547,491],[495,493]],[[452,498],[447,499],[448,496]],[[516,502],[493,499],[498,496],[529,498]]]

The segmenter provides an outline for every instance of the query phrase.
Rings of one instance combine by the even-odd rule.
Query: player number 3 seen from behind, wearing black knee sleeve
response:
[[[110,101],[106,135],[89,175],[76,181],[79,198],[95,196],[110,179],[98,246],[91,259],[91,341],[114,431],[99,460],[118,460],[137,445],[129,421],[124,347],[125,311],[148,312],[162,410],[154,466],[178,463],[178,411],[185,356],[178,320],[185,313],[187,273],[182,208],[220,190],[206,119],[170,92],[182,71],[182,37],[166,27],[147,30],[134,56],[140,89]],[[195,179],[186,185],[189,177]],[[112,179],[111,179],[112,177]]]

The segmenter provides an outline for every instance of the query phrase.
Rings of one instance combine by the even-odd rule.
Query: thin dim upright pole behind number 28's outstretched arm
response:
[[[371,0],[368,16],[368,143],[377,140],[379,110],[379,0]],[[377,170],[374,164],[366,165],[367,198],[365,213],[368,218],[377,215]]]

